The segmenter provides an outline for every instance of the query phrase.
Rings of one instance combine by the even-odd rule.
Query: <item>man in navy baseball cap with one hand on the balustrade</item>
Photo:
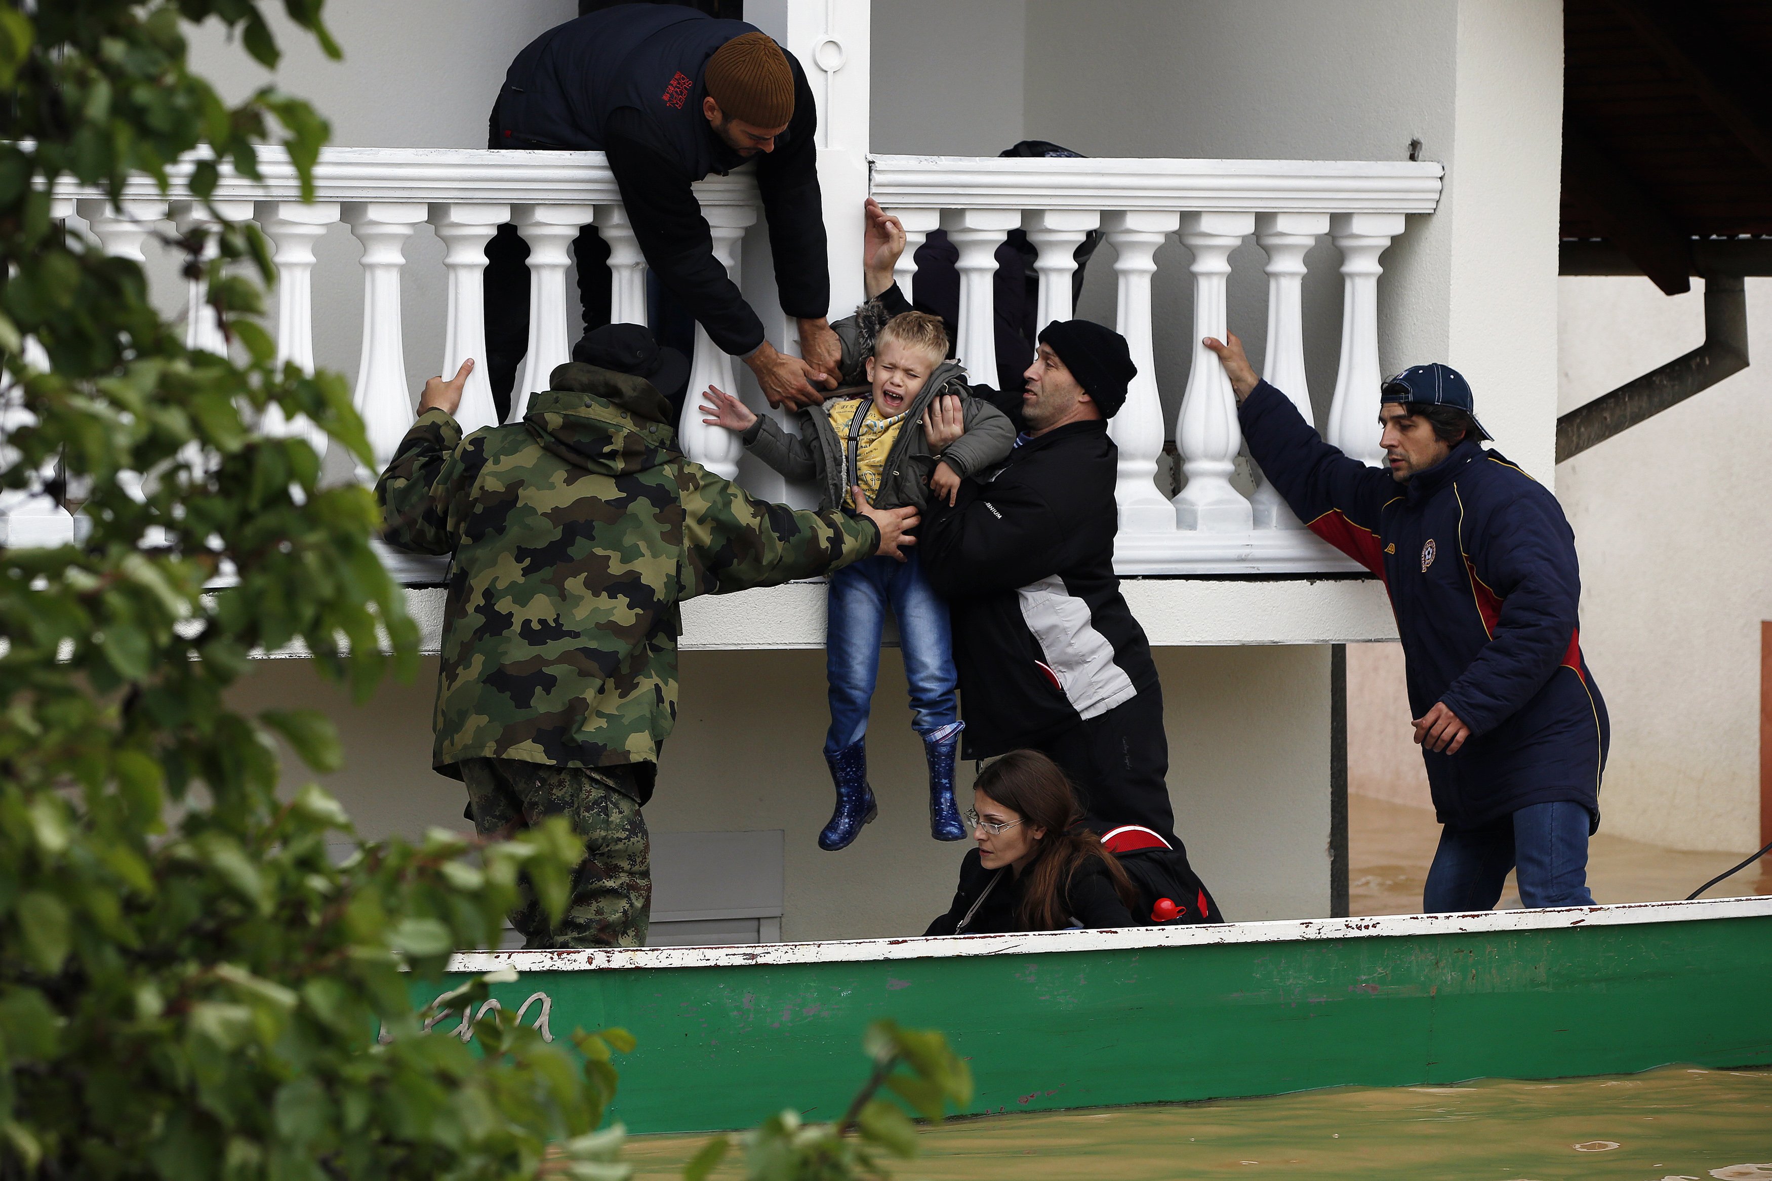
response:
[[[1556,498],[1483,446],[1471,384],[1448,365],[1380,386],[1384,473],[1324,443],[1240,340],[1205,345],[1262,475],[1391,597],[1444,825],[1423,908],[1488,910],[1510,869],[1527,907],[1591,905],[1611,722],[1582,655],[1575,535]]]

